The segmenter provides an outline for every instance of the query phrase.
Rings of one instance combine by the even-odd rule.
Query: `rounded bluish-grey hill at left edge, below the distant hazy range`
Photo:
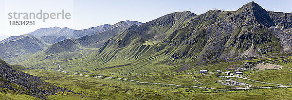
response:
[[[47,45],[33,35],[11,36],[0,43],[0,58],[17,63],[45,49]]]

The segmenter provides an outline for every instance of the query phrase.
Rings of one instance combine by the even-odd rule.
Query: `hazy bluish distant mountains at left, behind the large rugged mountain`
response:
[[[46,51],[50,52],[47,54],[80,50],[86,46],[99,48],[107,39],[133,24],[141,25],[142,23],[121,21],[114,25],[105,24],[84,30],[58,27],[42,28],[24,35],[10,36],[0,41],[0,52],[2,53],[0,58],[8,63],[18,63],[33,57],[34,54],[45,48],[47,48]],[[54,44],[54,42],[57,43]]]

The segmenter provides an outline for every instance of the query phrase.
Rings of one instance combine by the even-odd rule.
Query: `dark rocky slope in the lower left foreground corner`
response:
[[[59,91],[72,92],[66,88],[56,87],[39,77],[29,75],[0,59],[0,88],[1,91],[12,90],[40,99],[47,99],[48,95],[55,95]]]

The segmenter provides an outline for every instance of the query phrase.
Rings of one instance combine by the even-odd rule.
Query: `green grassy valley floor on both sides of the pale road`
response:
[[[274,59],[254,59],[247,60],[249,62],[256,62],[258,60],[263,60],[268,63],[277,64],[280,66],[285,66],[281,69],[276,70],[247,70],[243,71],[244,75],[242,77],[266,82],[258,83],[254,81],[249,81],[241,78],[228,78],[230,80],[239,81],[251,84],[252,87],[271,87],[277,86],[274,84],[267,83],[277,83],[286,86],[292,86],[292,79],[290,78],[292,72],[290,71],[292,67],[291,63],[287,60],[291,57],[284,58],[274,58]],[[286,62],[285,62],[286,61]],[[206,66],[196,66],[188,70],[181,72],[167,71],[160,73],[160,70],[167,69],[169,67],[176,66],[164,66],[161,69],[157,69],[153,72],[141,72],[142,74],[137,74],[137,72],[127,73],[123,69],[113,71],[109,69],[103,73],[99,71],[86,72],[82,74],[86,75],[97,75],[97,76],[109,76],[116,78],[125,78],[130,80],[137,80],[140,82],[149,83],[171,83],[178,85],[192,85],[206,88],[242,88],[244,86],[228,86],[222,83],[216,83],[216,81],[221,80],[223,77],[216,76],[216,70],[227,71],[226,67],[230,65],[243,64],[245,61],[237,62],[222,62],[214,65]],[[65,63],[64,63],[65,64]],[[62,63],[61,63],[62,65]],[[58,65],[52,64],[50,67],[53,69],[58,69]],[[62,66],[61,66],[62,67]],[[145,67],[151,68],[151,67]],[[164,68],[164,69],[163,69]],[[125,67],[127,69],[127,66]],[[208,69],[209,73],[199,73],[201,69]],[[144,70],[144,69],[143,69]],[[153,69],[154,70],[154,69]],[[57,86],[68,88],[81,95],[69,93],[69,92],[59,92],[57,95],[47,96],[52,100],[96,100],[96,99],[117,99],[117,100],[157,100],[157,99],[190,99],[190,100],[291,100],[292,99],[292,88],[263,88],[263,89],[240,89],[240,90],[210,90],[202,89],[196,87],[179,87],[173,85],[160,85],[160,84],[148,84],[148,83],[137,83],[132,81],[125,81],[120,79],[110,79],[110,78],[99,78],[99,77],[89,77],[70,73],[63,73],[56,70],[44,70],[44,69],[30,69],[22,70],[28,74],[39,76],[49,83],[53,83]],[[65,71],[67,71],[65,69]],[[118,72],[120,71],[120,72]],[[232,70],[233,71],[233,70]],[[80,72],[79,72],[80,73]],[[223,75],[223,73],[222,73]],[[195,78],[198,82],[196,82]],[[225,78],[225,77],[224,77]],[[225,78],[227,79],[227,78]],[[23,94],[15,94],[10,92],[1,92],[0,94],[3,99],[36,99],[31,96]]]

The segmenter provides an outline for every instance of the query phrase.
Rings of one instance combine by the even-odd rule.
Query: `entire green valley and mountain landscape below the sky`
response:
[[[291,100],[291,31],[292,13],[254,1],[146,23],[41,28],[0,41],[0,99]]]

